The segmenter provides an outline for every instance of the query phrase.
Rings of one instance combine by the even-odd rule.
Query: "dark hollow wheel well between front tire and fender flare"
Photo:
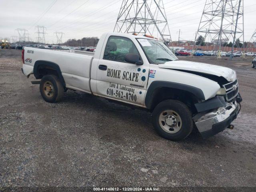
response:
[[[188,91],[180,90],[176,88],[162,87],[154,90],[151,97],[152,97],[152,102],[150,104],[150,110],[154,110],[154,108],[164,100],[173,99],[173,100],[181,101],[184,104],[186,104],[186,106],[190,108],[192,114],[196,112],[194,103],[198,102],[198,98],[196,98],[194,94]]]

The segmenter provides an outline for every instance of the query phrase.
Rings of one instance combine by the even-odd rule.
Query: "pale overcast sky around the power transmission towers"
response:
[[[123,0],[0,0],[0,38],[18,37],[28,30],[36,41],[36,26],[46,27],[46,43],[56,43],[54,32],[70,38],[99,37],[114,30]],[[150,1],[150,0],[149,0]],[[163,0],[172,40],[194,40],[206,0]],[[244,39],[256,29],[256,0],[244,0]]]

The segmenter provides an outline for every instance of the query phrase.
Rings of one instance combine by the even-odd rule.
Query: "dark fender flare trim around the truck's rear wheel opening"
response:
[[[40,69],[44,69],[44,68],[49,68],[49,69],[54,69],[56,70],[58,77],[60,78],[60,82],[61,84],[66,87],[66,83],[65,80],[62,76],[60,67],[58,66],[58,64],[54,63],[54,62],[50,62],[50,61],[45,61],[45,60],[37,60],[34,64],[34,69],[33,69],[33,73],[36,79],[41,79],[42,76],[39,73]]]

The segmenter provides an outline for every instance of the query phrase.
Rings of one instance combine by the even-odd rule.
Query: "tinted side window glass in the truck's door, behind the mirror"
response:
[[[132,40],[125,37],[110,36],[104,51],[103,59],[127,63],[124,58],[128,53],[139,55]]]

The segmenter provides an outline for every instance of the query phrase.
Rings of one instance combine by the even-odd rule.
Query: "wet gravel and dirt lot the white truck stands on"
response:
[[[0,186],[256,186],[256,69],[247,60],[188,58],[236,70],[243,98],[234,130],[171,142],[150,114],[68,90],[44,102],[0,50]]]

